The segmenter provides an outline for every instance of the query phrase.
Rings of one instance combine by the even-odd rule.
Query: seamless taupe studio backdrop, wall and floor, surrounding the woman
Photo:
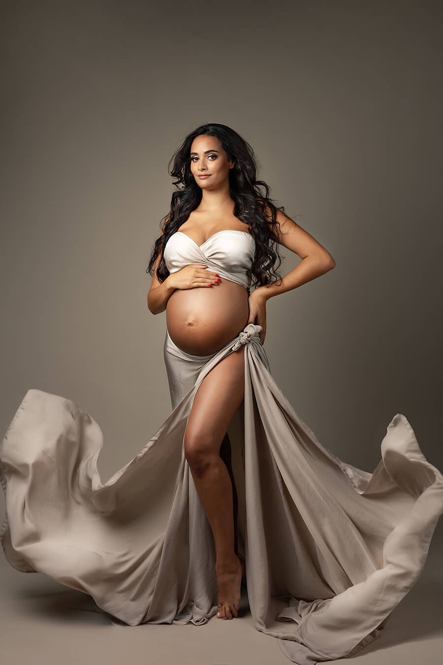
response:
[[[102,428],[105,481],[165,420],[165,314],[147,309],[145,269],[169,211],[169,158],[199,124],[222,122],[337,263],[268,301],[280,388],[346,462],[373,471],[400,412],[443,469],[440,7],[5,5],[2,435],[29,388],[69,397]],[[285,275],[300,259],[280,251]],[[440,520],[416,587],[353,662],[438,662],[442,541]],[[0,572],[9,665],[290,662],[250,614],[130,630],[3,555]]]

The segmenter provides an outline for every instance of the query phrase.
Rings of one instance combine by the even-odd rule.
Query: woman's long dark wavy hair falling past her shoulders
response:
[[[281,279],[278,268],[282,259],[278,253],[278,233],[276,233],[276,212],[284,212],[284,206],[276,207],[270,199],[270,187],[262,180],[256,180],[257,160],[250,144],[230,127],[211,122],[197,127],[188,134],[180,148],[173,154],[168,164],[168,171],[176,178],[173,185],[178,189],[173,192],[171,209],[161,219],[163,233],[155,244],[146,272],[153,275],[155,260],[161,252],[157,266],[157,279],[163,282],[169,275],[163,252],[171,235],[185,223],[191,212],[199,205],[203,192],[191,173],[191,145],[201,134],[216,136],[228,160],[235,162],[229,171],[229,193],[234,201],[234,215],[248,226],[248,231],[255,239],[255,255],[252,267],[248,270],[248,279],[254,286],[262,286]],[[172,170],[171,162],[173,162]],[[265,194],[260,192],[264,188]],[[266,207],[266,204],[268,207]],[[167,219],[167,223],[165,222]],[[283,257],[284,258],[284,257]],[[272,277],[277,277],[273,280]]]

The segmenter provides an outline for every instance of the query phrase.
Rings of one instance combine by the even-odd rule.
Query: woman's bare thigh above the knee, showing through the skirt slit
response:
[[[243,398],[244,346],[240,346],[217,362],[201,382],[189,414],[185,452],[219,452]]]

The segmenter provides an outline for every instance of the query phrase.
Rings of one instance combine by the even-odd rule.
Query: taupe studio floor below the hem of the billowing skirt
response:
[[[424,571],[385,630],[353,665],[438,665],[443,653],[443,524]],[[20,573],[0,557],[0,662],[7,665],[288,665],[276,638],[256,628],[243,587],[240,618],[194,624],[126,626],[93,611],[90,597],[39,573]]]

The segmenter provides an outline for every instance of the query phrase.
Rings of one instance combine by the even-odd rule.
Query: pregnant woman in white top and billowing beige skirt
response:
[[[28,390],[0,450],[5,556],[131,626],[240,617],[243,580],[255,627],[290,660],[353,656],[420,576],[443,476],[402,414],[373,473],[339,460],[272,378],[268,299],[335,261],[272,203],[249,144],[205,124],[171,175],[180,188],[153,246],[147,305],[166,312],[172,411],[102,483],[98,424],[68,398]],[[283,278],[277,245],[302,259]]]

